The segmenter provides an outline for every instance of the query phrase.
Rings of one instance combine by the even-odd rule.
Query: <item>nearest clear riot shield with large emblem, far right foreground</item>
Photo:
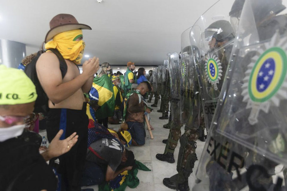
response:
[[[193,190],[286,190],[286,5],[245,1]]]

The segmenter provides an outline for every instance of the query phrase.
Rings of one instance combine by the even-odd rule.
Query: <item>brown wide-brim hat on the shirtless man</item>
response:
[[[50,21],[50,30],[46,35],[45,43],[47,43],[49,40],[51,40],[55,35],[59,33],[76,29],[92,30],[92,28],[86,24],[79,24],[79,22],[73,15],[70,14],[56,15]]]

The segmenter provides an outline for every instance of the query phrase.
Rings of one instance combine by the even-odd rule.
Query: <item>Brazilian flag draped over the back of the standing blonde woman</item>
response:
[[[113,83],[107,74],[94,78],[90,91],[90,99],[97,100],[100,108],[95,112],[96,119],[114,116],[115,97]]]

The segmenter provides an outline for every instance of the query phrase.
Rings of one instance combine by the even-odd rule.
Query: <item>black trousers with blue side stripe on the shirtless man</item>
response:
[[[59,178],[58,190],[80,191],[80,180],[83,174],[87,144],[88,144],[88,116],[86,103],[82,110],[50,109],[46,121],[47,137],[51,142],[60,129],[64,130],[61,140],[72,133],[79,135],[77,143],[68,153],[53,158],[49,165],[55,170]]]

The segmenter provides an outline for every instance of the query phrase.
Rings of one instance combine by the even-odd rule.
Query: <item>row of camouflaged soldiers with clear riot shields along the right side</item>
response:
[[[211,17],[230,3],[222,19]],[[193,190],[285,190],[278,174],[286,180],[287,17],[277,14],[286,4],[220,0],[182,33],[181,53],[167,54],[165,92],[170,91],[157,96],[164,102],[161,111],[171,101],[164,126],[170,133],[164,154],[156,158],[174,163],[178,140],[180,149],[178,173],[164,178],[165,186],[190,190],[196,141],[206,127]],[[161,70],[154,68],[152,75],[161,76]],[[162,79],[153,82],[155,90],[162,88]]]

